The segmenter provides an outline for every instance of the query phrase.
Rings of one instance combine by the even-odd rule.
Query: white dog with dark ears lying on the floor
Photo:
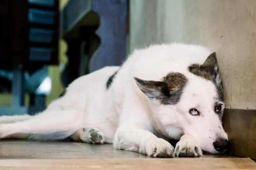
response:
[[[2,116],[0,138],[111,143],[152,157],[228,148],[215,52],[186,44],[135,50],[121,67],[77,78],[35,116]],[[167,139],[179,142],[174,147]]]

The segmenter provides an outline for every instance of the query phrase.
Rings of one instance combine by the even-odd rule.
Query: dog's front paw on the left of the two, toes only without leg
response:
[[[164,139],[156,138],[145,143],[146,154],[151,157],[172,158],[173,146]]]

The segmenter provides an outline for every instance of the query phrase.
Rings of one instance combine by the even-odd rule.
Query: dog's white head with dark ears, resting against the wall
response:
[[[172,72],[161,81],[135,80],[151,100],[158,131],[176,139],[189,134],[206,152],[227,149],[228,136],[222,127],[223,86],[215,52],[203,64],[190,65],[184,74]]]

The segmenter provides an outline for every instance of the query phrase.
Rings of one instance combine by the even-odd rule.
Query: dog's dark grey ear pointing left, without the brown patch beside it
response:
[[[161,81],[148,81],[134,77],[140,90],[148,96],[149,99],[161,98],[163,95],[168,95],[169,90],[167,84]]]

